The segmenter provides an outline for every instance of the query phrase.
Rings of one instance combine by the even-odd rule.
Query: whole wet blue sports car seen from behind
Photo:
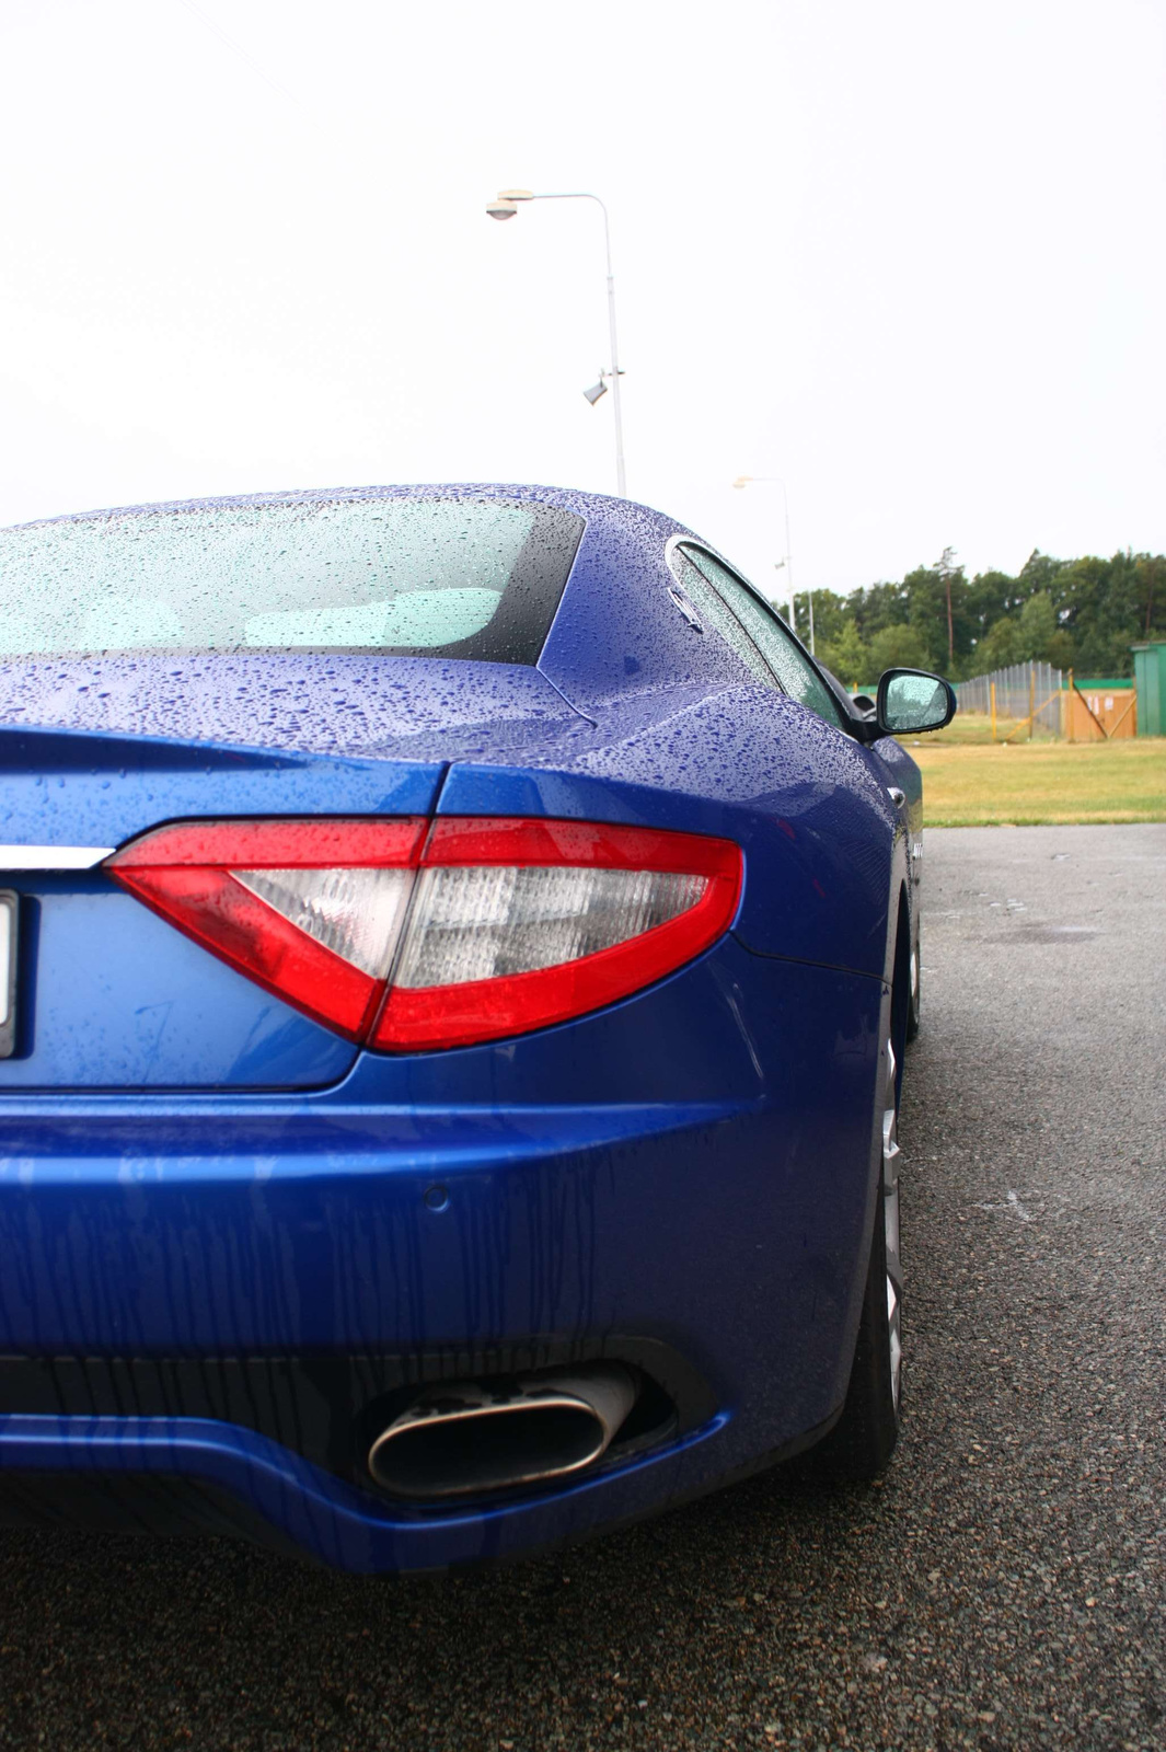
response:
[[[0,580],[0,1519],[432,1570],[886,1465],[945,682],[541,487]]]

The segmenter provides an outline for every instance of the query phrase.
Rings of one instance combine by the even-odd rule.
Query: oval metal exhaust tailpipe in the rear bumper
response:
[[[429,1388],[373,1442],[368,1470],[394,1496],[543,1484],[592,1466],[637,1396],[620,1363]]]

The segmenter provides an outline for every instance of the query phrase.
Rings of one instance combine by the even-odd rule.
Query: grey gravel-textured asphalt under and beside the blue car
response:
[[[1166,827],[928,834],[909,1417],[522,1566],[0,1535],[0,1745],[1166,1747]]]

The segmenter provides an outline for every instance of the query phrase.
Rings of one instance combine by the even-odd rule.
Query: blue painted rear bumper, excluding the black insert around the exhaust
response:
[[[375,1353],[618,1330],[683,1349],[720,1412],[699,1438],[592,1486],[422,1522],[261,1437],[193,1419],[81,1431],[12,1417],[0,1465],[107,1470],[112,1445],[114,1466],[226,1484],[352,1568],[520,1551],[748,1465],[821,1423],[844,1388],[881,997],[872,979],[713,951],[650,995],[655,1016],[629,1002],[592,1018],[579,1042],[592,1104],[555,1104],[564,1083],[578,1090],[562,1056],[546,1104],[522,1102],[551,1034],[571,1032],[551,1030],[522,1042],[529,1063],[462,1055],[480,1060],[462,1107],[445,1104],[448,1069],[425,1055],[364,1060],[294,1104],[9,1109],[0,1253],[21,1268],[0,1279],[5,1349]],[[697,1013],[714,1037],[706,1099],[685,1090]],[[653,1025],[650,1099],[636,1102],[636,1039]],[[396,1106],[390,1081],[408,1091]],[[473,1104],[490,1084],[497,1099]],[[716,1084],[734,1095],[711,1099]],[[439,1212],[424,1202],[434,1179],[450,1195]]]

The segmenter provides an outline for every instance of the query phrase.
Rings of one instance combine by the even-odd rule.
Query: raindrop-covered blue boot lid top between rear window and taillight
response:
[[[424,657],[0,662],[0,832],[119,844],[177,815],[418,815],[453,759],[592,725],[536,669]],[[93,685],[81,692],[81,678]],[[457,683],[457,685],[455,685]]]

